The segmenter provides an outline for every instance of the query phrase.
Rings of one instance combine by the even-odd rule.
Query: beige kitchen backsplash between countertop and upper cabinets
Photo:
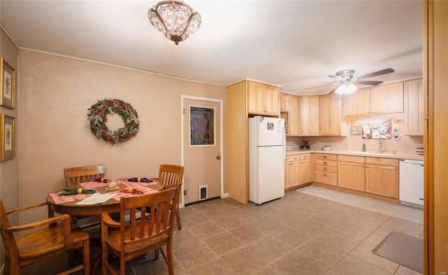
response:
[[[396,151],[399,154],[416,154],[416,145],[423,144],[422,135],[405,135],[405,125],[402,119],[391,119],[391,139],[381,139],[382,148],[386,151]],[[363,144],[367,151],[378,151],[378,139],[363,139],[359,133],[362,119],[347,122],[346,136],[341,137],[286,137],[286,144],[292,145],[293,150],[300,149],[302,140],[309,140],[311,149],[320,150],[323,146],[331,146],[335,151],[362,151]],[[353,128],[354,127],[354,128]],[[395,130],[395,131],[394,131]]]

